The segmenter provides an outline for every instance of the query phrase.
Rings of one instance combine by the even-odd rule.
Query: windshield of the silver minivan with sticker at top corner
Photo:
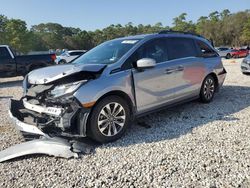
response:
[[[93,48],[80,58],[75,64],[113,64],[126,54],[139,39],[108,41]]]

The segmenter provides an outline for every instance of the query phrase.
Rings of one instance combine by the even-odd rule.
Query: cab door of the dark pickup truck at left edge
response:
[[[6,47],[0,47],[0,77],[11,76],[16,76],[15,59]]]

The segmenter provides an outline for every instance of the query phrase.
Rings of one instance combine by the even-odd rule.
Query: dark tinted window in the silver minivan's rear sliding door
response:
[[[198,55],[193,39],[168,38],[167,41],[169,60],[196,57]]]

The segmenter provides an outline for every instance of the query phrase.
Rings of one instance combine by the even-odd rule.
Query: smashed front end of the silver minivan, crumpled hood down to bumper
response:
[[[103,69],[104,66],[91,65],[60,74],[53,72],[53,77],[40,76],[46,69],[28,75],[23,82],[24,96],[10,103],[10,116],[17,128],[26,134],[85,137],[90,109],[84,108],[73,94],[96,79]],[[39,80],[34,79],[36,74]]]

